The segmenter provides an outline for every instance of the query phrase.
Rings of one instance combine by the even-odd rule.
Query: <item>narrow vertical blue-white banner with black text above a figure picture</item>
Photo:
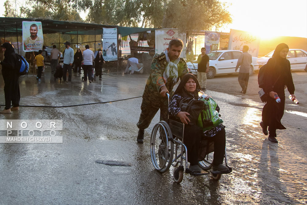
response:
[[[103,59],[117,61],[117,28],[103,28]]]

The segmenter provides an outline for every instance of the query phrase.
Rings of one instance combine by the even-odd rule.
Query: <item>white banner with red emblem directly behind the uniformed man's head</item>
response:
[[[179,34],[179,29],[157,29],[155,32],[156,43],[155,49],[156,53],[162,53],[166,51],[169,47],[169,41],[173,39],[181,39],[183,41],[183,49],[181,51],[180,57],[185,57],[186,51],[186,40],[185,34]]]

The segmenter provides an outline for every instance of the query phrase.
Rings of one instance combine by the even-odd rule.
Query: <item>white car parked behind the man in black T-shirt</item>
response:
[[[207,79],[214,78],[215,75],[235,73],[235,66],[237,65],[238,59],[242,51],[239,50],[216,50],[208,53],[209,56],[209,71],[207,73]],[[197,63],[188,62],[189,72],[196,75]],[[252,57],[250,75],[255,70],[259,69],[257,63],[257,57]],[[239,72],[239,71],[238,71]]]

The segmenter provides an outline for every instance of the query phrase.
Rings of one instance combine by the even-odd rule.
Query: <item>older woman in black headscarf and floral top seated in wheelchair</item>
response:
[[[184,98],[194,98],[198,100],[200,98],[198,96],[200,90],[197,78],[193,74],[185,74],[169,102],[169,116],[175,117],[177,121],[180,120],[185,124],[183,143],[187,147],[188,162],[190,163],[189,168],[192,171],[202,171],[198,162],[204,160],[205,155],[202,154],[202,150],[206,149],[206,147],[203,146],[203,142],[207,140],[207,144],[212,141],[214,142],[213,170],[227,172],[229,169],[223,165],[226,144],[225,126],[220,124],[204,133],[202,128],[197,125],[188,124],[188,122],[190,122],[188,115],[190,114],[181,111],[179,107],[179,102]],[[216,110],[218,112],[220,111],[219,106],[216,107]]]

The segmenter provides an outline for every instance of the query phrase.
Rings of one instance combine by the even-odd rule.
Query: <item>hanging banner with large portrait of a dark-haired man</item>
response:
[[[22,22],[22,41],[25,52],[38,51],[43,48],[44,38],[41,22]]]

